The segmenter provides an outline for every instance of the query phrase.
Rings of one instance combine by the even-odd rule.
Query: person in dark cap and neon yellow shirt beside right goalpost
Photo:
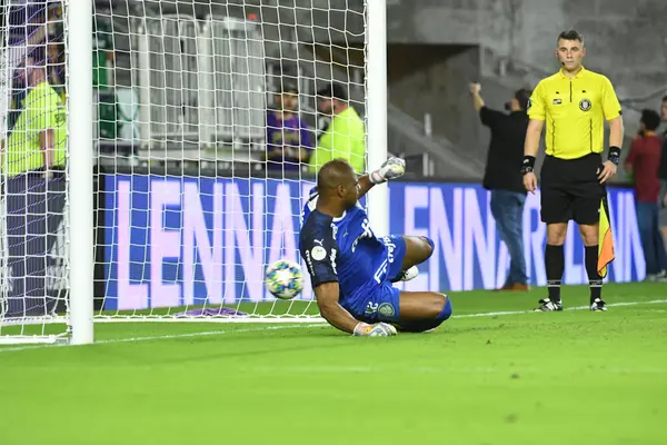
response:
[[[322,165],[335,158],[350,162],[359,175],[364,172],[366,132],[364,121],[349,106],[346,88],[330,83],[317,92],[319,111],[331,117],[331,123],[320,137],[310,157],[309,170],[316,174]]]

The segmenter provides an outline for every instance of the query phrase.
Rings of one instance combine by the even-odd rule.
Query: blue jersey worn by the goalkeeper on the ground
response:
[[[340,305],[349,308],[396,273],[391,237],[374,235],[364,208],[357,206],[340,218],[316,209],[318,194],[310,195],[301,215],[299,250],[312,287],[337,281]],[[400,266],[400,264],[398,265]]]

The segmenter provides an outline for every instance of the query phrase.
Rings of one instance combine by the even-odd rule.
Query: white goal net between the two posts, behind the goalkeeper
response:
[[[283,301],[263,273],[301,263],[330,149],[365,169],[366,23],[361,0],[96,4],[98,320],[318,316],[308,274]]]

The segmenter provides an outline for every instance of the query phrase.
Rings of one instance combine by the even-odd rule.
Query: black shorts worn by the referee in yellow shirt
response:
[[[540,172],[542,222],[574,219],[577,224],[598,224],[600,201],[607,198],[607,189],[597,178],[601,166],[599,154],[578,159],[547,156]]]

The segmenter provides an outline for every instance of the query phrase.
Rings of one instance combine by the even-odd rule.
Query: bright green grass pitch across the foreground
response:
[[[0,444],[665,444],[667,285],[609,285],[631,305],[604,314],[471,316],[544,291],[455,294],[456,318],[395,338],[104,324],[107,343],[3,347]]]

